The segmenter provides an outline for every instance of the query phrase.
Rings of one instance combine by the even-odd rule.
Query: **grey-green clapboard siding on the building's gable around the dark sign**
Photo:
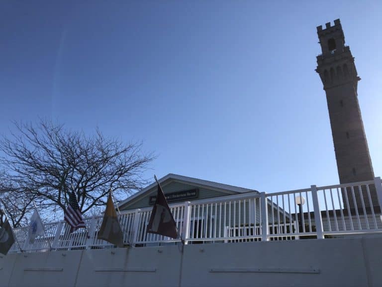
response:
[[[218,196],[224,196],[224,195],[229,195],[228,193],[225,192],[220,192],[216,190],[211,190],[207,188],[200,188],[197,186],[185,184],[185,183],[180,183],[180,182],[171,182],[165,186],[162,187],[163,192],[166,193],[171,193],[171,192],[177,192],[177,191],[184,191],[184,190],[190,190],[190,189],[199,189],[199,196],[197,198],[191,198],[190,201],[192,200],[197,200],[197,199],[203,199],[203,198],[211,198],[211,197],[218,197]],[[138,199],[137,201],[133,201],[131,204],[126,204],[123,206],[123,209],[121,210],[128,210],[128,209],[136,209],[136,208],[144,208],[148,206],[152,206],[149,204],[149,198],[150,196],[156,195],[157,194],[157,187],[154,187],[151,191],[146,193],[145,197]],[[185,200],[180,200],[179,202],[184,202]],[[177,201],[172,201],[171,203],[175,203]]]

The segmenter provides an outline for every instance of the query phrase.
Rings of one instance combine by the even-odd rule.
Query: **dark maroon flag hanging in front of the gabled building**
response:
[[[157,200],[155,201],[155,205],[151,212],[147,232],[160,234],[174,239],[179,237],[177,225],[159,182]]]

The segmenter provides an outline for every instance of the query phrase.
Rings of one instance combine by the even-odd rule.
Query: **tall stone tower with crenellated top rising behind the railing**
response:
[[[373,180],[374,171],[357,98],[361,78],[357,75],[350,48],[345,46],[340,19],[334,20],[334,26],[326,23],[325,29],[318,26],[317,34],[322,54],[317,56],[316,72],[326,92],[340,183]],[[372,205],[378,206],[375,190],[370,192]],[[363,198],[368,207],[370,200],[365,193]],[[362,208],[360,192],[356,191],[355,197],[357,205],[349,196],[350,208]]]

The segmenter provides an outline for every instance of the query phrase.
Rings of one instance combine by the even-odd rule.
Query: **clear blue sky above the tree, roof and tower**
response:
[[[316,26],[340,18],[382,175],[382,2],[0,1],[0,132],[52,117],[144,142],[167,173],[338,183]]]

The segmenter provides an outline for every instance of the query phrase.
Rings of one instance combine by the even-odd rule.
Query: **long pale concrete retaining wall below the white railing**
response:
[[[376,236],[10,254],[0,287],[379,287],[381,245]]]

